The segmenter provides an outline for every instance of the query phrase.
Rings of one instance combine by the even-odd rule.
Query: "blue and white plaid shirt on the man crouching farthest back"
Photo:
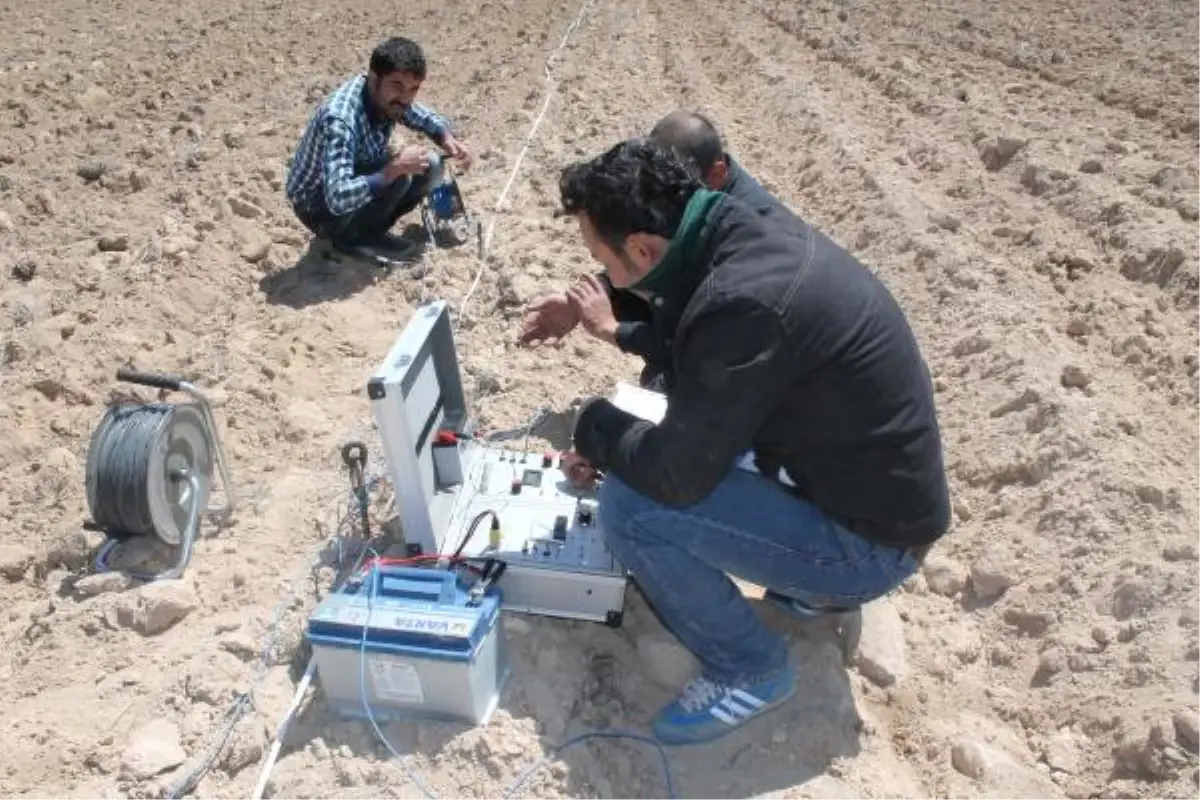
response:
[[[439,144],[449,127],[415,102],[400,121]],[[382,188],[377,173],[388,163],[394,128],[371,108],[366,74],[343,83],[308,120],[288,167],[288,200],[307,213],[335,217],[361,209]]]

